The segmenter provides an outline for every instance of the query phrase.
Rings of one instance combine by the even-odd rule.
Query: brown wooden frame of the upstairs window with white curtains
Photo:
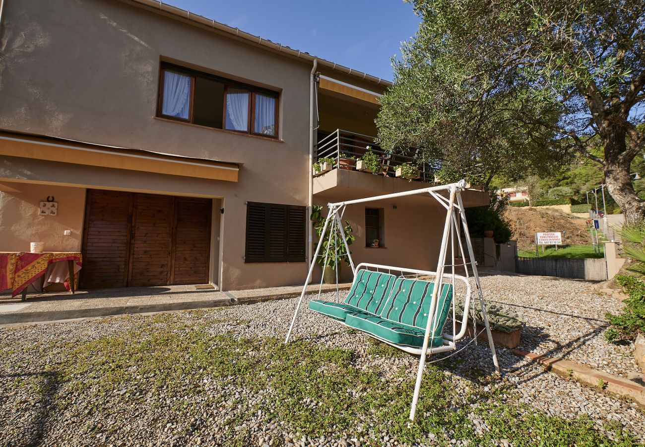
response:
[[[190,103],[188,107],[188,120],[185,118],[178,118],[176,116],[170,116],[163,114],[163,94],[164,94],[164,77],[166,70],[172,71],[175,73],[183,74],[184,76],[190,77]],[[247,134],[253,136],[261,136],[263,138],[272,138],[273,140],[279,140],[279,112],[280,112],[280,92],[275,92],[269,90],[268,88],[255,87],[246,83],[233,81],[232,79],[222,78],[221,76],[215,76],[214,74],[208,74],[205,72],[200,72],[197,70],[192,70],[190,68],[181,67],[181,65],[175,65],[172,63],[162,62],[159,65],[159,87],[158,87],[158,101],[157,101],[157,118],[163,118],[164,120],[173,120],[179,121],[180,123],[188,123],[192,125],[198,125],[194,122],[194,107],[195,107],[195,78],[205,78],[212,81],[217,81],[224,85],[224,98],[223,98],[223,116],[222,116],[222,127],[210,127],[210,126],[201,126],[208,127],[209,129],[224,130],[226,132],[235,132],[236,134]],[[248,98],[248,129],[246,130],[235,130],[235,129],[226,129],[226,96],[228,94],[228,88],[243,88],[249,94]],[[273,135],[263,134],[261,132],[255,132],[255,95],[261,94],[264,96],[270,96],[275,98],[275,129],[273,130]]]

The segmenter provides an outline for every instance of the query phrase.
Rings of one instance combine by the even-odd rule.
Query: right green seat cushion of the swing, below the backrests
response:
[[[411,346],[412,348],[421,348],[423,346],[424,331],[407,324],[396,323],[372,315],[348,315],[345,324],[394,344]],[[442,345],[443,337],[441,337],[441,333],[430,338],[428,342],[428,346],[432,348]]]

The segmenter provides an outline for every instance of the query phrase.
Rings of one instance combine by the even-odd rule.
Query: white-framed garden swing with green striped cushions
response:
[[[475,301],[471,300],[472,290],[468,272],[469,266],[472,270],[475,292],[479,296],[479,306],[484,320],[484,329],[482,331],[486,331],[495,371],[499,373],[497,354],[495,353],[495,345],[493,344],[493,337],[488,324],[484,295],[479,281],[479,274],[477,273],[477,263],[475,262],[475,255],[470,242],[470,234],[468,233],[464,204],[461,199],[461,192],[464,189],[466,189],[466,182],[460,180],[457,183],[448,185],[329,203],[329,213],[324,221],[321,243],[317,245],[315,255],[313,255],[314,260],[324,256],[323,265],[327,265],[330,249],[333,247],[337,250],[337,237],[340,236],[344,245],[344,254],[342,256],[347,257],[354,278],[347,297],[341,302],[337,265],[339,255],[334,253],[336,301],[310,300],[310,309],[325,317],[332,318],[340,324],[362,331],[370,337],[381,340],[402,351],[421,356],[412,397],[412,407],[410,408],[411,421],[414,421],[415,418],[426,357],[435,353],[455,351],[457,342],[466,335],[469,309],[471,305],[474,306],[475,304]],[[430,194],[446,209],[441,248],[439,249],[439,259],[437,260],[437,271],[424,271],[364,262],[354,266],[341,223],[346,207],[355,203],[375,202],[377,200],[419,194]],[[460,227],[464,233],[463,240]],[[329,232],[327,232],[328,229],[330,229]],[[429,229],[432,229],[430,225]],[[323,240],[326,237],[334,238],[334,243],[326,244],[326,253],[323,255],[320,251],[324,245]],[[464,242],[468,250],[468,258],[464,256]],[[455,253],[455,248],[458,250],[457,253]],[[458,255],[463,260],[461,264],[455,264],[455,255]],[[466,259],[470,259],[470,261],[466,261]],[[291,337],[315,264],[315,262],[312,262],[310,265],[303,292],[295,307],[285,343],[288,343]],[[459,273],[463,269],[463,275],[457,275],[455,273],[457,269],[459,269]],[[317,298],[321,296],[322,286],[323,279],[321,278]],[[459,308],[459,311],[457,311],[457,308]],[[444,331],[446,325],[450,327],[449,320],[452,321],[452,330]],[[475,320],[474,315],[473,320]],[[476,340],[477,335],[479,334],[475,333],[473,328],[472,340]],[[461,349],[464,348],[465,346]],[[432,360],[432,362],[446,359],[459,351],[455,351],[441,359]]]

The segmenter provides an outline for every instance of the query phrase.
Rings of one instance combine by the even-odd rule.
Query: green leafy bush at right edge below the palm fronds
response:
[[[606,314],[611,327],[604,335],[612,343],[635,340],[639,333],[645,333],[645,282],[634,276],[616,276],[616,281],[630,297],[624,300],[622,313]]]

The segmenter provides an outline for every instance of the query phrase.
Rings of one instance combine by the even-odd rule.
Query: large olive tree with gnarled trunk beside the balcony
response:
[[[645,134],[642,0],[415,0],[419,31],[394,61],[384,147],[427,148],[488,178],[598,163],[628,222],[645,218],[630,163]],[[595,141],[594,141],[595,137]],[[590,149],[600,139],[602,154]]]

